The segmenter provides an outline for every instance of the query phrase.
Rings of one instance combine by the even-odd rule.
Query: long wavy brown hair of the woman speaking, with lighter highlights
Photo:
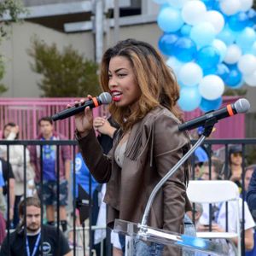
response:
[[[148,43],[126,39],[109,48],[102,57],[101,85],[108,88],[108,68],[111,58],[124,56],[131,62],[136,82],[142,92],[138,108],[131,113],[130,108],[119,108],[110,104],[109,111],[123,130],[128,130],[153,108],[162,105],[178,119],[181,113],[177,108],[179,89],[172,70],[166,66],[160,53]]]

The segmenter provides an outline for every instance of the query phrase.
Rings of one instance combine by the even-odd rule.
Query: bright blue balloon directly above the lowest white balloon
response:
[[[220,53],[218,49],[209,45],[198,51],[195,61],[203,70],[207,70],[216,67],[218,65],[219,58]]]

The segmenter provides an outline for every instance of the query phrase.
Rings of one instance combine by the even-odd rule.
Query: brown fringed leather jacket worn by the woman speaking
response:
[[[189,148],[189,134],[178,131],[177,118],[166,108],[155,108],[131,129],[122,169],[113,159],[119,131],[108,156],[102,154],[94,131],[78,138],[84,160],[96,181],[108,183],[104,201],[108,204],[108,225],[115,218],[141,223],[148,197],[154,186]],[[183,233],[184,212],[190,210],[186,195],[189,178],[186,164],[160,189],[148,217],[148,225]],[[175,248],[164,255],[178,255]]]

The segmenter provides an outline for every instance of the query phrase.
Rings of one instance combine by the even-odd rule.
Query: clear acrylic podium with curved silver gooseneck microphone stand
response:
[[[166,180],[171,177],[172,174],[176,172],[177,169],[182,166],[186,160],[189,159],[189,156],[194,153],[195,149],[198,148],[201,143],[204,142],[206,137],[211,134],[213,125],[215,125],[215,123],[216,120],[213,119],[205,124],[205,131],[203,132],[201,138],[154,187],[151,195],[149,196],[141,224],[127,222],[121,219],[115,219],[113,231],[130,237],[130,242],[128,246],[126,246],[125,256],[133,256],[133,241],[137,239],[148,242],[156,242],[162,245],[175,245],[177,247],[182,247],[186,251],[190,252],[202,252],[208,253],[210,255],[222,256],[229,255],[229,246],[225,243],[210,241],[194,236],[186,236],[183,234],[175,234],[168,230],[154,229],[153,227],[147,225],[148,214],[150,212],[150,207],[152,206],[155,195],[162,187],[163,183],[165,183]]]

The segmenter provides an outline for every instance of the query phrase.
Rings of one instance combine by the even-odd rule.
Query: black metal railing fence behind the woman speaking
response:
[[[195,143],[195,142],[192,142],[192,143]],[[72,152],[73,152],[73,166],[75,166],[75,160],[74,160],[74,155],[75,155],[75,152],[76,152],[76,149],[75,149],[75,146],[76,146],[76,142],[75,141],[0,141],[0,144],[3,144],[3,145],[7,145],[7,147],[11,146],[11,145],[23,145],[24,147],[24,151],[26,149],[26,147],[28,146],[31,146],[31,145],[39,145],[40,146],[40,151],[42,152],[42,147],[44,145],[55,145],[56,146],[56,151],[57,152],[60,152],[60,147],[61,145],[69,145],[70,147],[72,147]],[[246,155],[245,155],[245,152],[246,152],[246,148],[249,146],[249,145],[255,145],[256,144],[256,139],[236,139],[236,140],[232,140],[232,139],[226,139],[226,140],[222,140],[222,139],[219,139],[219,140],[207,140],[205,142],[205,144],[209,145],[210,149],[214,146],[214,145],[222,145],[223,148],[224,148],[224,154],[222,154],[222,156],[220,154],[218,154],[218,156],[220,158],[223,158],[224,160],[224,168],[227,169],[228,168],[228,146],[230,144],[241,144],[241,147],[242,147],[242,156],[243,156],[243,162],[242,162],[242,169],[243,169],[243,172],[242,172],[242,199],[244,201],[245,199],[245,191],[244,191],[244,170],[245,170],[245,166],[246,166]],[[26,154],[24,154],[24,158],[26,159]],[[57,154],[57,159],[56,161],[58,162],[59,161],[59,155]],[[43,163],[43,160],[42,160],[42,154],[41,154],[41,162]],[[210,165],[211,165],[211,159],[210,159]],[[42,165],[41,165],[42,167]],[[74,167],[73,167],[74,168]],[[24,166],[24,177],[26,179],[26,166]],[[193,177],[193,175],[192,175]],[[211,167],[210,167],[210,177],[211,177]],[[59,179],[59,175],[58,175],[58,172],[57,172],[57,179]],[[75,187],[75,181],[76,180],[76,176],[75,176],[75,172],[73,170],[73,188]],[[41,172],[41,180],[40,180],[40,184],[42,186],[42,182],[43,182],[43,174]],[[8,183],[8,186],[9,186],[9,183]],[[57,191],[59,192],[60,188],[59,188],[59,183],[57,183]],[[7,189],[9,191],[9,189]],[[26,182],[24,183],[24,193],[26,195]],[[59,195],[59,194],[58,194]],[[76,208],[76,201],[74,200],[75,199],[75,192],[74,192],[74,189],[73,189],[73,194],[72,194],[72,203],[71,203],[71,209],[72,209],[72,212],[73,212],[73,216],[76,216],[75,214],[75,208]],[[57,208],[59,207],[59,197],[58,197],[58,201],[57,201]],[[89,251],[90,251],[90,255],[93,255],[93,244],[92,244],[92,223],[91,223],[91,206],[92,206],[92,202],[91,202],[91,197],[90,197],[90,201],[89,201],[89,211],[90,211],[90,218],[89,218],[89,226],[88,229],[90,232],[89,232]],[[243,207],[244,207],[244,204],[243,204]],[[9,209],[9,196],[8,196],[8,209]],[[9,210],[8,210],[9,211]],[[44,207],[42,206],[41,207],[41,212],[42,212],[42,217],[44,218]],[[57,227],[59,228],[59,220],[60,220],[60,213],[59,211],[56,211],[57,212]],[[242,222],[243,223],[243,220],[244,220],[244,208],[242,210]],[[9,213],[9,212],[8,212]],[[9,214],[8,214],[9,216]],[[41,224],[43,224],[43,218],[41,220]],[[8,218],[8,224],[9,224],[9,218]],[[9,225],[8,225],[9,227]],[[74,241],[74,244],[75,242],[77,241],[77,232],[78,230],[76,229],[76,223],[75,223],[75,218],[73,218],[73,222],[71,223],[71,229],[73,229],[73,241]],[[7,230],[7,236],[9,237],[9,233],[10,232],[10,229],[8,228]],[[245,254],[245,243],[244,243],[244,233],[242,232],[242,239],[241,239],[241,244],[242,244],[242,255]],[[42,246],[42,244],[41,244]],[[104,247],[103,248],[104,252],[106,252],[105,255],[108,255],[108,256],[111,256],[112,255],[112,252],[111,252],[111,246],[110,246],[110,243],[109,241],[107,242],[107,247]],[[73,248],[73,255],[76,255],[77,253],[77,250],[76,250],[76,247]],[[98,256],[98,255],[97,255]]]

